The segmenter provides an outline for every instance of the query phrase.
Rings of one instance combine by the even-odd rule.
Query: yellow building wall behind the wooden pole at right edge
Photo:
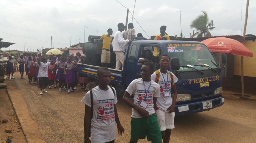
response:
[[[253,57],[243,57],[243,75],[256,77],[256,41],[246,40],[244,45],[253,53]],[[234,75],[241,75],[241,56],[239,55],[234,55]]]

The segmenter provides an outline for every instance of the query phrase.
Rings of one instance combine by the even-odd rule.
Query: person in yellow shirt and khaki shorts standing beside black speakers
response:
[[[108,34],[103,34],[100,39],[94,39],[94,44],[97,41],[101,41],[103,43],[102,51],[101,51],[101,66],[108,67],[110,63],[110,42],[112,42],[111,35],[113,34],[113,30],[111,28],[108,29]]]

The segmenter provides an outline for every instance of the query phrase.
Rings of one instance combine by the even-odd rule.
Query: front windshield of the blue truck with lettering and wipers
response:
[[[179,58],[179,71],[194,71],[195,69],[215,69],[217,62],[203,44],[174,43],[166,44],[166,50],[170,58]],[[193,68],[190,68],[190,67]]]

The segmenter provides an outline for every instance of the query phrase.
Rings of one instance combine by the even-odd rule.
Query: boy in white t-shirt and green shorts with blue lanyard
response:
[[[141,77],[133,80],[123,96],[124,102],[132,107],[130,143],[148,138],[153,143],[161,143],[161,131],[155,115],[157,97],[160,97],[160,86],[150,79],[154,65],[146,62],[141,67]],[[133,95],[133,100],[131,96]]]

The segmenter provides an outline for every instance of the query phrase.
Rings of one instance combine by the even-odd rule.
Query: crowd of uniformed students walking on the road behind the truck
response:
[[[11,59],[8,60],[6,73],[11,67]],[[79,77],[77,73],[77,63],[83,63],[84,56],[81,55],[20,55],[18,60],[20,77],[24,78],[24,72],[28,77],[29,84],[36,84],[41,88],[40,94],[47,93],[46,88],[59,88],[59,92],[74,92],[78,83],[82,89],[86,89],[88,81],[87,77]]]

